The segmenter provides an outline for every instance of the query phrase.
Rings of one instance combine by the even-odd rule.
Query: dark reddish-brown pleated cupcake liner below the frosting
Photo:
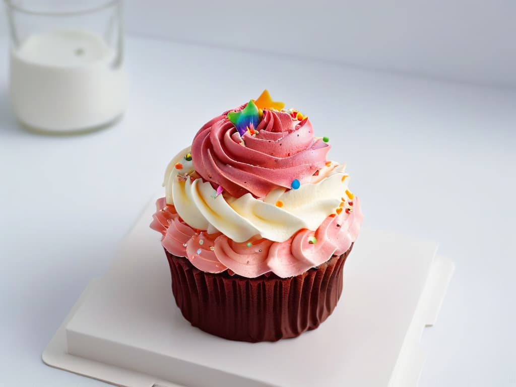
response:
[[[317,328],[342,293],[342,273],[353,245],[341,256],[296,277],[245,278],[207,273],[165,250],[172,292],[191,325],[230,340],[261,342]]]

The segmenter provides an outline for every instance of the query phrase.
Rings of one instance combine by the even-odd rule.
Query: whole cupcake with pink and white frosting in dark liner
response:
[[[362,212],[329,149],[307,116],[265,90],[208,121],[172,159],[151,228],[192,326],[277,341],[333,312]]]

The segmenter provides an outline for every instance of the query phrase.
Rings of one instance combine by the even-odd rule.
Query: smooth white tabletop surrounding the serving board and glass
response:
[[[169,159],[208,119],[268,88],[330,137],[366,227],[438,240],[456,261],[424,333],[420,386],[516,385],[515,91],[128,39],[123,121],[47,137],[15,123],[5,39],[2,52],[0,384],[103,385],[45,366],[42,350],[106,270]]]

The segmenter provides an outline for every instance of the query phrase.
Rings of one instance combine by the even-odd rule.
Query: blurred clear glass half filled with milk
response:
[[[105,127],[125,106],[120,0],[5,2],[10,98],[30,130]]]

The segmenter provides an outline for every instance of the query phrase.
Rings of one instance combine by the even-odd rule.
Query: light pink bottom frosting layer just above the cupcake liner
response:
[[[352,208],[349,213],[342,211],[328,216],[315,232],[303,229],[284,242],[255,237],[238,243],[220,233],[192,229],[181,220],[174,206],[161,198],[156,202],[151,228],[162,233],[165,249],[187,257],[200,270],[218,273],[230,269],[247,278],[273,272],[286,278],[316,267],[351,247],[363,219],[358,197],[354,198]],[[310,243],[312,236],[316,243]]]

